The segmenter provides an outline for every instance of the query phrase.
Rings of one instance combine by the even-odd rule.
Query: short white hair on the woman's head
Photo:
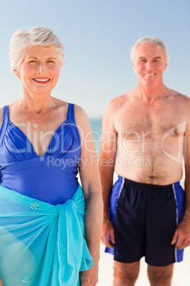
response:
[[[57,52],[60,65],[64,66],[64,48],[59,38],[50,28],[34,26],[30,30],[20,28],[13,33],[9,46],[9,60],[11,70],[18,70],[23,60],[24,51],[32,46],[52,48]]]

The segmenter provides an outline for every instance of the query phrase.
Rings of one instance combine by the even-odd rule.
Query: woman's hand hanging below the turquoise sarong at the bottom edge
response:
[[[95,286],[99,280],[98,275],[99,266],[98,263],[95,263],[90,270],[80,272],[80,286]]]

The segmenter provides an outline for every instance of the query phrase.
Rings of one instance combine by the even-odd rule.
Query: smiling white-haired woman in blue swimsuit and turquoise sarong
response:
[[[0,110],[0,284],[96,285],[101,184],[86,113],[51,96],[63,46],[19,29],[9,58],[23,97]]]

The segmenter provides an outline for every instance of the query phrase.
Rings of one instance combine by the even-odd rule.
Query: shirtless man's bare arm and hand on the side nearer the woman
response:
[[[117,150],[117,132],[114,127],[114,113],[114,103],[110,102],[106,109],[102,125],[101,153],[99,159],[99,171],[104,201],[101,240],[109,248],[113,248],[115,244],[113,224],[111,223],[108,213]]]

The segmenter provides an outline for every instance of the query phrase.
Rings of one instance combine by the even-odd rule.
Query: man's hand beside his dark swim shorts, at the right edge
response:
[[[189,215],[184,215],[181,223],[177,227],[173,239],[172,245],[174,245],[178,249],[186,248],[186,246],[190,245],[190,217]]]

